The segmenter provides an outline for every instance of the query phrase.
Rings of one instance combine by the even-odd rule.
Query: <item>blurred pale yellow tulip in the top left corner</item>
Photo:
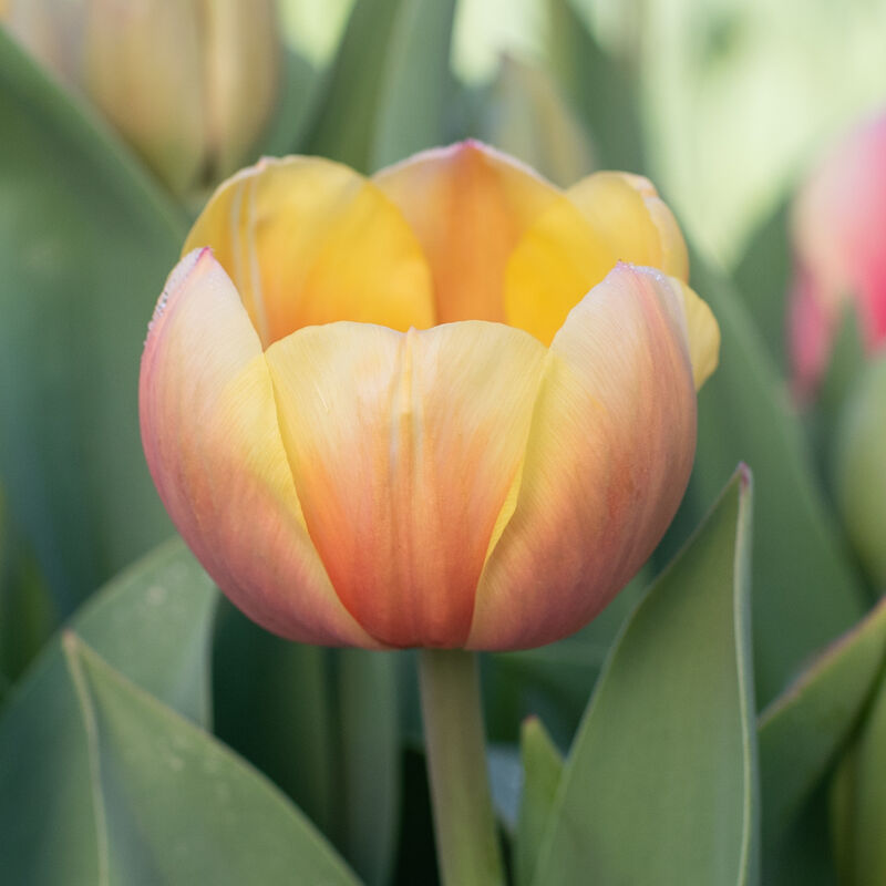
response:
[[[10,32],[175,194],[241,165],[274,107],[274,0],[9,0]]]

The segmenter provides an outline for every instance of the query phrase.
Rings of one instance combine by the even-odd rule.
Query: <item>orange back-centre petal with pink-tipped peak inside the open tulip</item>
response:
[[[421,240],[434,276],[437,322],[503,321],[507,258],[560,192],[474,141],[418,154],[374,181]]]

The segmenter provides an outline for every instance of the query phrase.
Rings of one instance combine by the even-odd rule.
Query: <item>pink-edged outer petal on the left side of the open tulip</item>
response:
[[[237,606],[293,640],[378,646],[342,607],[308,537],[261,344],[208,249],[182,259],[157,303],[140,410],[161,498]]]

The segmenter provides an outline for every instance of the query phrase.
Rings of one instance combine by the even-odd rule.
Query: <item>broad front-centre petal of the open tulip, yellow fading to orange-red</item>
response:
[[[302,329],[267,353],[311,538],[391,646],[459,647],[545,349],[506,326]]]

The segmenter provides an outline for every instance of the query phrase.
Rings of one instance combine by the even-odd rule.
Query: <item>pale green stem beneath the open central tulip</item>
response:
[[[420,656],[441,882],[444,886],[504,886],[476,656],[451,649],[423,649]]]

